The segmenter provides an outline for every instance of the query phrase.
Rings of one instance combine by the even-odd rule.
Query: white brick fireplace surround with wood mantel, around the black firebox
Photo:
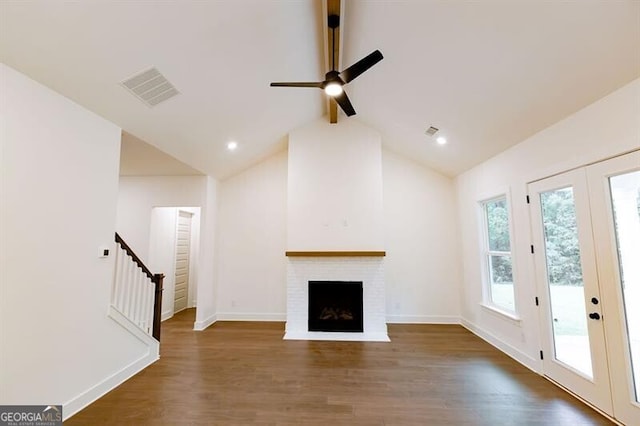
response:
[[[384,254],[302,256],[287,254],[287,326],[285,340],[389,342],[386,324]],[[362,281],[364,332],[308,330],[309,281]]]

